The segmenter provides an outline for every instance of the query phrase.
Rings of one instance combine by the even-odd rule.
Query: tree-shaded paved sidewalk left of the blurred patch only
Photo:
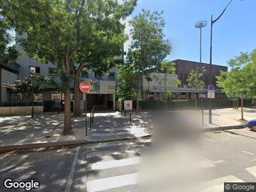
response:
[[[31,147],[48,147],[72,145],[99,141],[124,140],[140,138],[151,134],[150,120],[147,122],[132,115],[121,116],[119,112],[95,113],[90,131],[90,114],[87,114],[88,136],[86,136],[85,116],[72,118],[70,136],[61,136],[63,131],[63,114],[35,116],[0,117],[0,150],[13,150]]]

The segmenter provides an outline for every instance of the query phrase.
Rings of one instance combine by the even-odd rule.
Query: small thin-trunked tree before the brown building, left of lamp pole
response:
[[[201,80],[202,76],[203,74],[196,72],[196,70],[191,70],[187,79],[188,86],[193,88],[195,91],[195,108],[196,109],[197,109],[196,93],[205,87],[204,81]]]

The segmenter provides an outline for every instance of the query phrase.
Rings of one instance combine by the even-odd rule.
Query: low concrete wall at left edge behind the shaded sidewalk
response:
[[[0,115],[31,115],[31,106],[0,107]],[[44,112],[43,106],[34,106],[34,113]]]

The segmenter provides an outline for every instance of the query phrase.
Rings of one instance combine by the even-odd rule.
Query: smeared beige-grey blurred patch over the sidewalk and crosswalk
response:
[[[207,162],[198,156],[200,122],[188,113],[154,115],[152,148],[141,156],[139,182],[146,191],[198,191],[200,170]]]

